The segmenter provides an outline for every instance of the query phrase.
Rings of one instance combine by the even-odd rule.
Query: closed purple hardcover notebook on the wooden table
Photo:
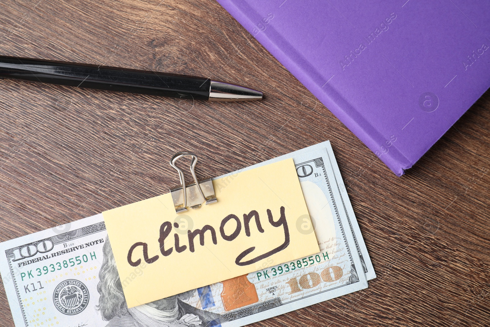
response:
[[[218,0],[398,176],[490,86],[488,0]]]

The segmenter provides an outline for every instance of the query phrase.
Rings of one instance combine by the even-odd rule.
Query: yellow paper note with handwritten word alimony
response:
[[[218,202],[176,214],[170,193],[104,211],[128,307],[319,252],[293,159],[213,180]]]

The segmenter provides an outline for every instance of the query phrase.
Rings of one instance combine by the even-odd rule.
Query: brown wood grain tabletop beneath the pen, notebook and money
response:
[[[397,177],[214,0],[3,0],[0,54],[204,75],[263,101],[0,80],[0,241],[330,140],[378,277],[253,326],[489,326],[490,92]],[[0,326],[13,326],[0,286]]]

